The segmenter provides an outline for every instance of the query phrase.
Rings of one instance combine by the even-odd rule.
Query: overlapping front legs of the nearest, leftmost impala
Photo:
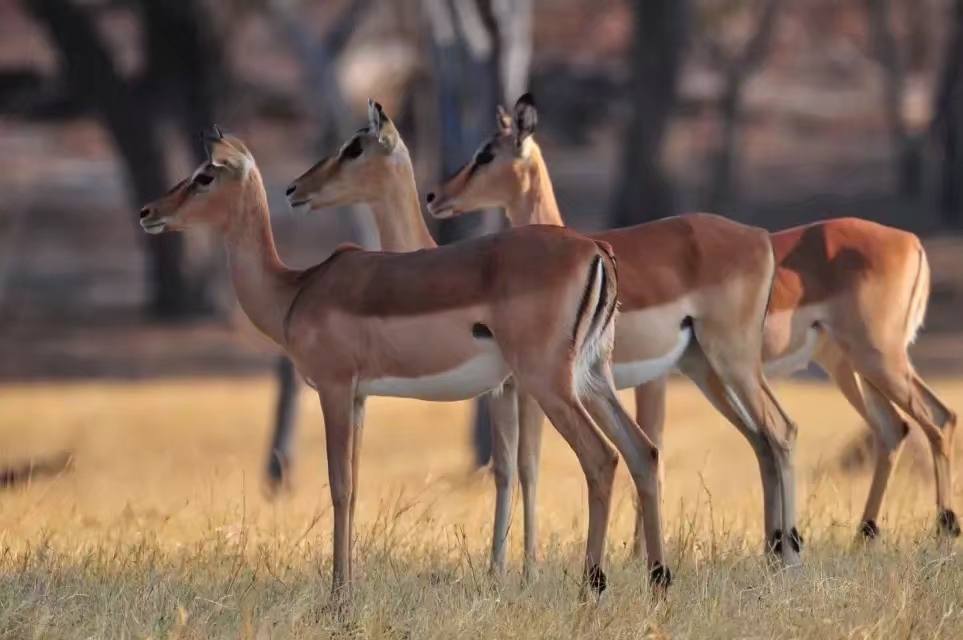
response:
[[[352,453],[355,406],[353,387],[354,385],[333,387],[318,385],[328,453],[328,483],[334,510],[331,598],[339,610],[347,604],[351,581],[351,503],[354,495]]]

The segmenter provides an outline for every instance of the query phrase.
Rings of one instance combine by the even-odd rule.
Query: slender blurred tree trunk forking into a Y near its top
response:
[[[749,81],[759,73],[772,50],[776,17],[781,0],[763,0],[756,27],[745,46],[732,54],[705,29],[701,35],[711,63],[723,74],[725,84],[719,104],[722,135],[712,162],[708,211],[731,215],[736,209],[739,166],[739,128],[742,126],[742,96]]]

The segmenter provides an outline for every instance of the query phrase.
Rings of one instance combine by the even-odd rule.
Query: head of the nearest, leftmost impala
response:
[[[207,161],[140,210],[140,224],[147,233],[200,225],[223,231],[246,186],[260,179],[254,156],[240,140],[225,136],[216,126],[202,137],[208,145]]]

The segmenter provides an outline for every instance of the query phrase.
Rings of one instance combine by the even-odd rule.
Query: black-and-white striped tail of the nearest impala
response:
[[[612,248],[598,242],[599,252],[589,269],[588,282],[575,323],[576,391],[595,387],[600,361],[611,357],[615,342],[615,317],[618,310],[618,269]]]

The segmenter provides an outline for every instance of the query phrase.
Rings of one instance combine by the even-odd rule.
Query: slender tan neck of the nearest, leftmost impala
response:
[[[274,246],[270,215],[264,184],[254,169],[225,230],[231,280],[245,315],[283,346],[284,316],[294,299],[295,287],[293,272],[281,262]]]

